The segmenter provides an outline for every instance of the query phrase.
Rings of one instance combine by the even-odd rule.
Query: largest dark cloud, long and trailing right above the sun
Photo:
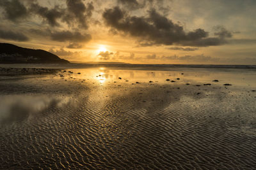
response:
[[[157,13],[156,10],[148,11],[148,17],[129,16],[118,6],[106,9],[102,14],[106,25],[116,31],[124,32],[138,38],[140,45],[188,45],[188,46],[213,46],[227,43],[223,30],[219,37],[209,38],[209,33],[204,29],[185,32],[179,24]],[[222,36],[221,32],[225,34]],[[219,35],[220,34],[220,35]],[[221,37],[220,37],[221,36]]]

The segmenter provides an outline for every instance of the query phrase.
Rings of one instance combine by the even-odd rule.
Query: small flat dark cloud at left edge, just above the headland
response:
[[[28,41],[29,38],[21,32],[5,31],[0,29],[0,38],[14,41]]]

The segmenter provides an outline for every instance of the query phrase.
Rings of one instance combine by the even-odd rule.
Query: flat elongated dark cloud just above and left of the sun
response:
[[[70,42],[88,42],[92,39],[90,34],[81,34],[80,32],[60,31],[51,33],[52,40],[70,41]]]

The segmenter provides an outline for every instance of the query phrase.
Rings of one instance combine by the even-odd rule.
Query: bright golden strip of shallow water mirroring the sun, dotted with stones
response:
[[[255,85],[256,73],[246,73],[246,70],[239,71],[212,71],[211,69],[188,69],[188,70],[173,70],[173,71],[148,71],[148,70],[122,70],[122,69],[109,69],[107,67],[99,67],[97,69],[68,69],[74,74],[61,73],[65,76],[71,76],[73,80],[92,80],[100,84],[106,82],[116,81],[118,83],[125,83],[129,81],[132,83],[154,81],[158,83],[166,82],[166,79],[177,80],[175,83],[211,83],[212,80],[220,80],[220,83],[234,83],[236,85]],[[81,73],[81,74],[75,74]],[[122,79],[119,79],[122,78]]]

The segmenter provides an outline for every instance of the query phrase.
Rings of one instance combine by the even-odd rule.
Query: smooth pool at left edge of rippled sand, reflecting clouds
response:
[[[40,113],[70,104],[68,98],[54,96],[6,95],[0,96],[0,124],[12,124],[40,117]]]

